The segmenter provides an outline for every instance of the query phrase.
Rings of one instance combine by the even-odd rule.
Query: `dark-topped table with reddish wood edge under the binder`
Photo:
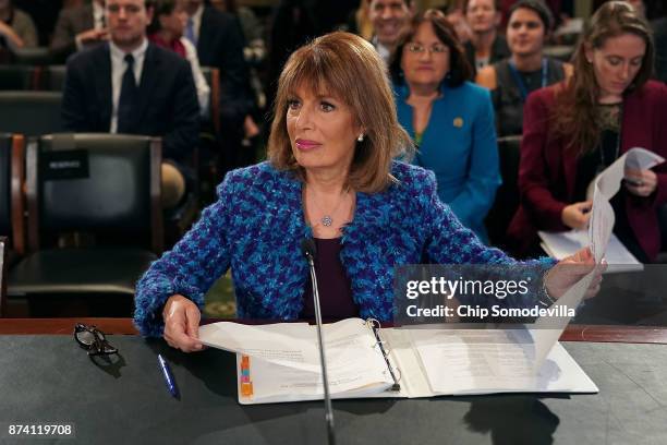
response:
[[[119,358],[90,360],[66,338],[77,322],[116,334]],[[0,443],[37,442],[10,437],[8,422],[47,421],[74,425],[75,437],[39,442],[326,443],[322,401],[242,406],[234,354],[181,353],[136,334],[130,318],[0,318]],[[573,325],[561,340],[599,394],[336,400],[339,443],[667,443],[667,329]],[[157,353],[180,399],[166,390]]]

